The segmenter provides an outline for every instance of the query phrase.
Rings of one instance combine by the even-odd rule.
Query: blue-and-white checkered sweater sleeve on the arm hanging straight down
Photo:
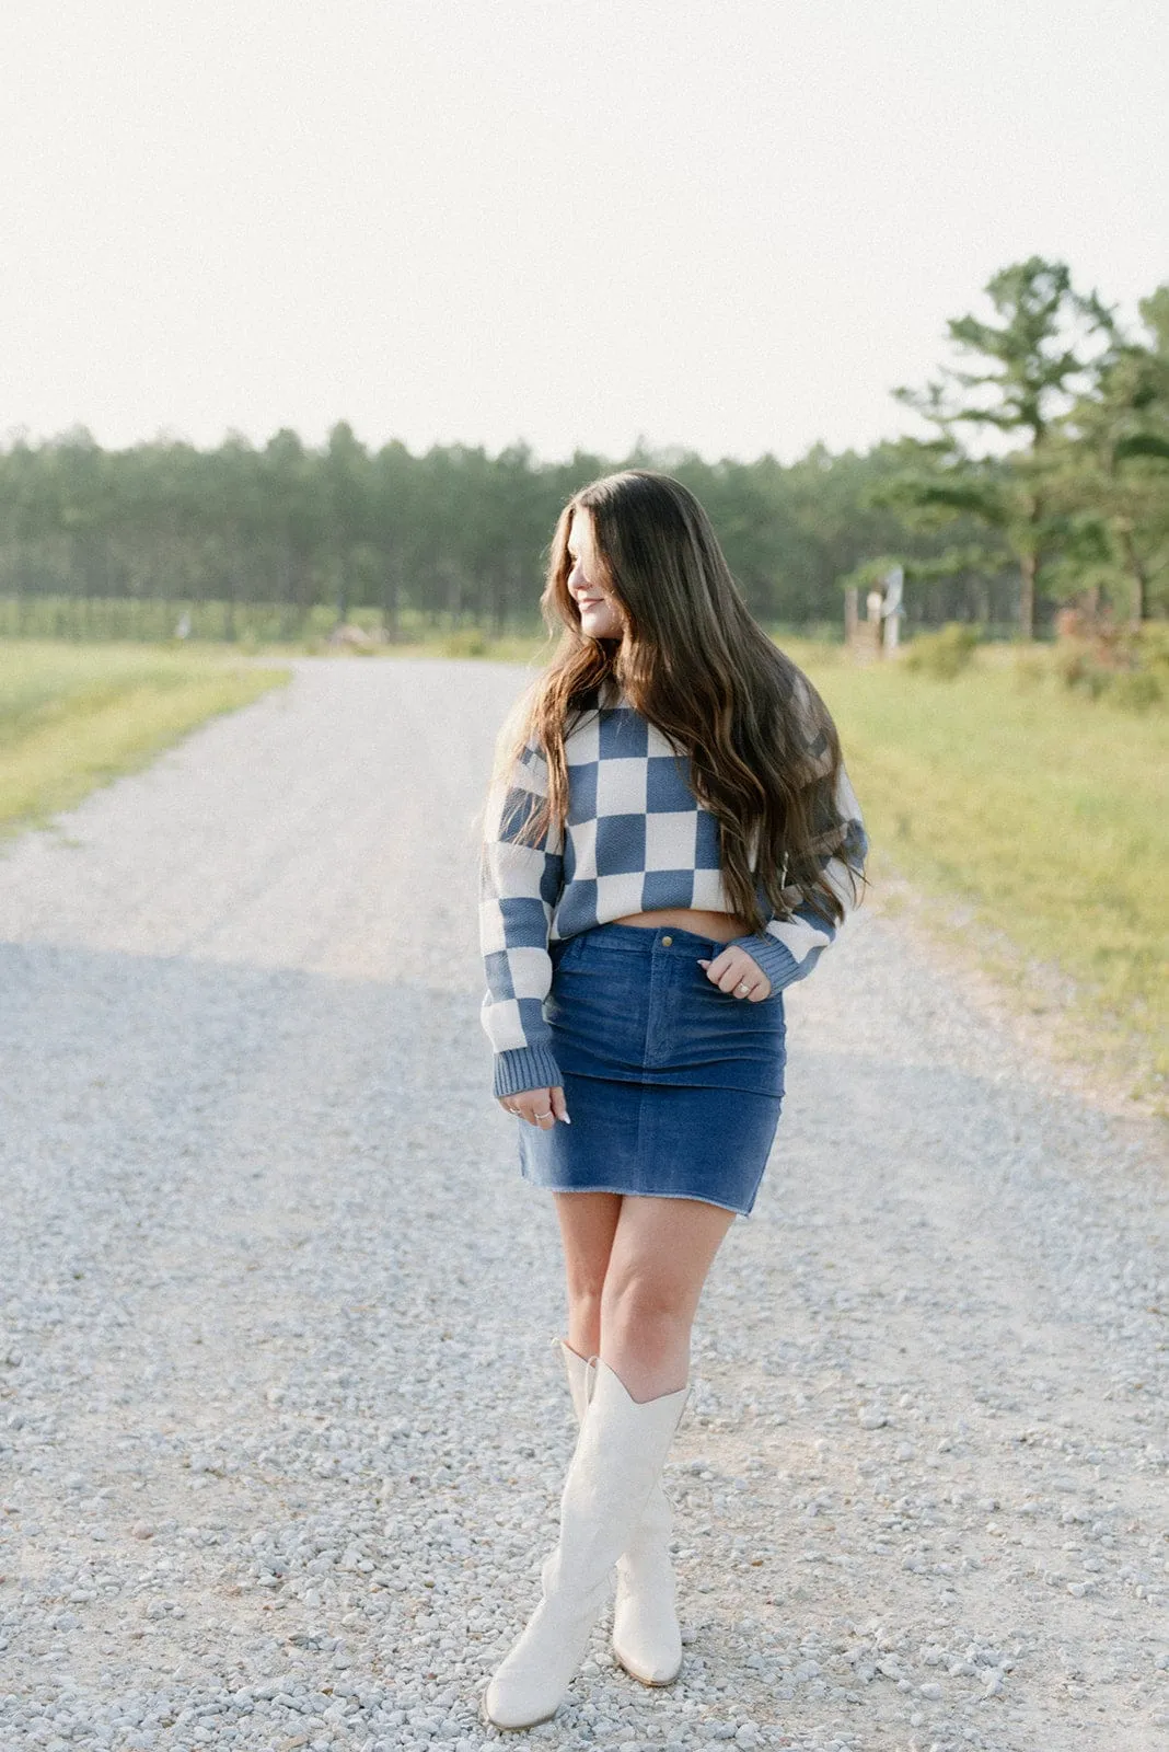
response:
[[[486,992],[480,1020],[495,1051],[494,1093],[555,1088],[544,999],[551,986],[548,932],[564,885],[564,836],[518,844],[548,794],[544,755],[530,741],[513,771],[490,785],[480,853],[480,948]]]

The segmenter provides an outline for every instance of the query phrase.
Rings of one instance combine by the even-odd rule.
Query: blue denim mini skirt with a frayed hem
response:
[[[550,943],[544,1016],[572,1123],[520,1121],[527,1181],[751,1214],[784,1097],[784,993],[719,992],[698,957],[721,950],[674,925]]]

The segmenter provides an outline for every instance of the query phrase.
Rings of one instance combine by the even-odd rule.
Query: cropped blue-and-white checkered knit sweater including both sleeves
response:
[[[821,752],[822,738],[810,739],[808,753]],[[690,788],[686,755],[634,711],[616,683],[576,718],[565,759],[569,815],[555,839],[516,843],[548,792],[548,766],[532,741],[488,792],[480,857],[481,1021],[495,1051],[495,1095],[562,1081],[544,1020],[550,941],[651,908],[733,911],[719,869],[719,823]],[[826,827],[836,855],[822,857],[821,867],[847,913],[868,841],[844,769],[835,816]],[[798,888],[782,899],[791,908],[772,915],[763,934],[732,939],[758,962],[772,990],[803,979],[836,936]],[[760,901],[766,915],[761,888]]]

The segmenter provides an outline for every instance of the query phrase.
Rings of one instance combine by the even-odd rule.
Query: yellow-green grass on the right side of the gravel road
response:
[[[1074,696],[1036,648],[984,646],[954,680],[784,648],[840,729],[875,892],[905,878],[957,901],[933,929],[1041,1014],[1057,1051],[1164,1113],[1169,713]]]

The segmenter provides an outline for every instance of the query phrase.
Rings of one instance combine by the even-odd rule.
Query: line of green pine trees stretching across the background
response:
[[[948,324],[956,363],[896,391],[931,436],[816,445],[791,464],[642,445],[562,463],[523,443],[415,456],[397,442],[369,449],[346,422],[317,449],[289,429],[212,450],[170,438],[105,450],[84,429],[14,438],[0,449],[5,627],[38,625],[37,603],[52,601],[61,631],[84,631],[84,604],[124,599],[175,618],[220,604],[228,638],[248,604],[268,604],[287,638],[322,604],[341,622],[373,611],[390,636],[404,620],[528,629],[560,506],[630,466],[696,492],[765,624],[835,627],[842,585],[894,561],[910,625],[1031,634],[1074,597],[1132,620],[1164,615],[1169,286],[1141,305],[1141,333],[1062,263],[1004,268],[987,294],[994,321]]]

